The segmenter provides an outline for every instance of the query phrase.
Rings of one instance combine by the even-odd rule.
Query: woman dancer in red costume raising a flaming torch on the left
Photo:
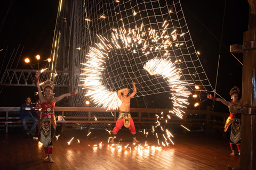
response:
[[[40,119],[39,119],[39,125],[38,125],[38,132],[41,134],[40,141],[43,143],[44,150],[46,156],[43,158],[43,160],[49,159],[51,163],[54,162],[52,159],[52,139],[55,134],[56,129],[56,120],[54,116],[54,106],[55,103],[60,101],[61,99],[72,96],[77,94],[78,89],[76,89],[74,92],[63,94],[58,97],[53,97],[52,91],[54,89],[54,83],[51,80],[46,80],[42,84],[42,89],[44,92],[44,95],[42,95],[41,88],[39,85],[39,74],[40,72],[36,72],[35,82],[38,90],[38,96],[41,100],[41,108],[42,111],[40,113]]]

